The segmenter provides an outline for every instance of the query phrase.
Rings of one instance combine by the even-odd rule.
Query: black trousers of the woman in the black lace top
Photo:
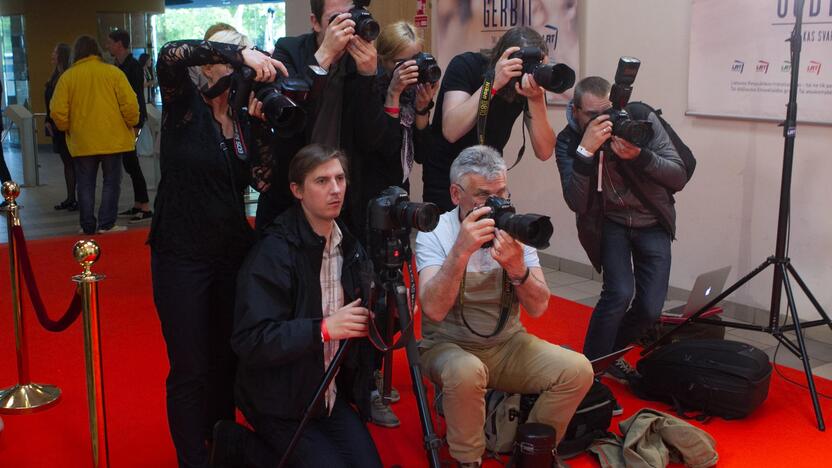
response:
[[[234,419],[230,337],[240,261],[151,253],[153,300],[170,361],[168,425],[180,467],[207,467],[214,423]]]

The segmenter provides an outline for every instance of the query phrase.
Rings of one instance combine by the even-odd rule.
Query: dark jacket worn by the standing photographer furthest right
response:
[[[592,266],[599,272],[602,269],[601,227],[605,216],[611,217],[609,212],[605,213],[605,206],[633,210],[636,217],[652,218],[653,222],[661,225],[671,237],[675,238],[676,235],[673,192],[681,190],[687,183],[685,166],[658,117],[650,114],[648,120],[653,123],[654,137],[642,148],[637,158],[624,161],[612,155],[605,160],[605,174],[610,176],[610,180],[605,180],[605,184],[615,183],[618,185],[618,191],[615,197],[607,193],[609,190],[605,190],[604,194],[623,203],[624,207],[618,207],[615,202],[609,200],[605,202],[604,194],[596,190],[598,158],[587,161],[578,156],[577,148],[583,132],[579,130],[569,111],[569,123],[558,133],[555,156],[563,196],[566,204],[575,212],[578,240]],[[645,206],[642,197],[652,206]]]

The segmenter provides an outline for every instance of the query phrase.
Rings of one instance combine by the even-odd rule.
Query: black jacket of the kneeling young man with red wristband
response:
[[[344,257],[344,300],[362,293],[372,265],[339,220]],[[300,419],[324,374],[321,342],[321,259],[324,238],[315,234],[298,204],[275,219],[251,249],[237,276],[231,345],[239,356],[237,404],[244,414]],[[341,366],[338,394],[369,416],[373,348],[354,340]],[[321,415],[323,405],[316,416]]]

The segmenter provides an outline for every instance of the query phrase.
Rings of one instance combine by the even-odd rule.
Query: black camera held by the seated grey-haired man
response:
[[[485,200],[485,206],[491,208],[491,213],[481,219],[491,218],[497,229],[506,231],[511,237],[536,249],[549,247],[549,240],[555,232],[552,221],[548,216],[539,214],[517,214],[511,200],[490,196]],[[489,248],[493,242],[486,242],[482,248]]]

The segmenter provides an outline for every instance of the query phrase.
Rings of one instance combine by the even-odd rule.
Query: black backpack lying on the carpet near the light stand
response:
[[[768,396],[771,363],[766,353],[728,340],[677,341],[648,354],[637,365],[630,389],[640,398],[674,405],[682,417],[748,416]]]

